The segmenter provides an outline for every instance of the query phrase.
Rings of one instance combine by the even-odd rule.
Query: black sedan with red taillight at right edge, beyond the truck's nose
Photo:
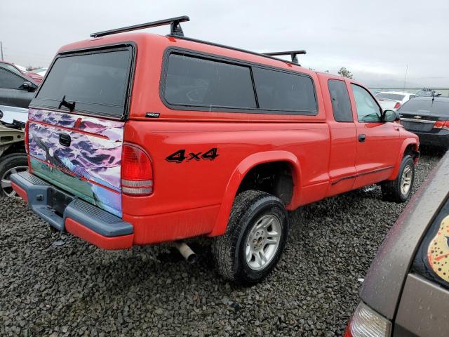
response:
[[[421,145],[449,148],[449,98],[415,98],[398,112],[403,126],[420,137]]]

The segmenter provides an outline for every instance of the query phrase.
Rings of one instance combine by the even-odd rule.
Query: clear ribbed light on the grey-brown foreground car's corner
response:
[[[389,337],[391,322],[365,303],[358,304],[344,337]]]

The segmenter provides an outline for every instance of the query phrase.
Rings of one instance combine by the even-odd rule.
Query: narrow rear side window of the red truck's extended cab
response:
[[[354,121],[346,83],[338,79],[330,79],[328,88],[335,121]]]

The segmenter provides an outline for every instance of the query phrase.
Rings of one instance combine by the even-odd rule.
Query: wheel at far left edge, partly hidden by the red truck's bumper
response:
[[[12,173],[25,171],[28,168],[27,154],[13,153],[0,158],[0,197],[18,197],[11,187]]]

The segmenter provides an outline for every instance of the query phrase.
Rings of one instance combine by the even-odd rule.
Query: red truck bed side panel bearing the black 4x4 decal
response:
[[[130,120],[125,126],[124,141],[144,145],[154,169],[151,196],[122,196],[123,218],[142,217],[140,223],[134,223],[135,237],[140,241],[137,244],[154,242],[153,236],[160,231],[148,230],[149,227],[176,227],[178,238],[210,232],[232,173],[241,161],[257,152],[288,151],[297,157],[302,172],[295,182],[299,197],[290,208],[299,206],[300,199],[321,199],[326,192],[323,184],[328,182],[329,131],[325,123]],[[213,149],[216,157],[210,159]],[[302,188],[307,186],[309,195],[302,195]],[[164,216],[157,216],[166,213],[180,215],[178,225],[186,232],[179,232],[180,227],[173,221],[167,223]],[[182,213],[188,216],[190,226],[185,226]]]

